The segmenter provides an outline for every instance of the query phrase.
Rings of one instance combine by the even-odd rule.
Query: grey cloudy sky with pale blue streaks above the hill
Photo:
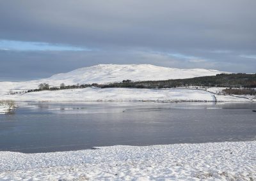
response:
[[[255,0],[0,0],[0,81],[97,64],[256,73]]]

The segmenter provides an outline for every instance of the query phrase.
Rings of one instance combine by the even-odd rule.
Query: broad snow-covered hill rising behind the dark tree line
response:
[[[153,66],[150,64],[99,64],[75,69],[68,73],[60,73],[50,78],[28,82],[0,82],[0,94],[7,94],[11,89],[36,89],[40,83],[58,86],[76,85],[77,83],[109,83],[122,80],[168,80],[177,78],[193,78],[196,76],[216,75],[221,72],[210,69],[177,69]]]

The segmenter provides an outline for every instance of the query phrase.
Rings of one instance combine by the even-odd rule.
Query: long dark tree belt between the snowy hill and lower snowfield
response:
[[[175,87],[229,87],[229,88],[256,88],[256,74],[246,73],[233,73],[224,74],[221,73],[216,76],[200,76],[195,78],[184,78],[174,80],[156,80],[156,81],[138,81],[132,82],[132,80],[123,80],[122,82],[108,83],[108,84],[82,84],[82,85],[65,85],[61,83],[58,87],[50,87],[47,83],[41,83],[38,85],[38,89],[29,90],[28,92],[37,91],[58,91],[63,89],[83,89],[86,87],[98,87],[104,88],[143,88],[143,89],[163,89],[163,88],[175,88]]]

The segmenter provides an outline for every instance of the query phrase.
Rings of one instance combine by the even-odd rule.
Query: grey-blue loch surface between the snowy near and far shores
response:
[[[0,151],[253,141],[256,136],[255,103],[23,104],[0,115]]]

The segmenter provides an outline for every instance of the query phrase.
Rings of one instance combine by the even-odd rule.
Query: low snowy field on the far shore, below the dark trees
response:
[[[252,101],[252,99],[214,95],[211,92],[197,89],[93,89],[91,87],[61,91],[29,92],[21,95],[0,95],[1,99],[13,99],[16,101]]]

